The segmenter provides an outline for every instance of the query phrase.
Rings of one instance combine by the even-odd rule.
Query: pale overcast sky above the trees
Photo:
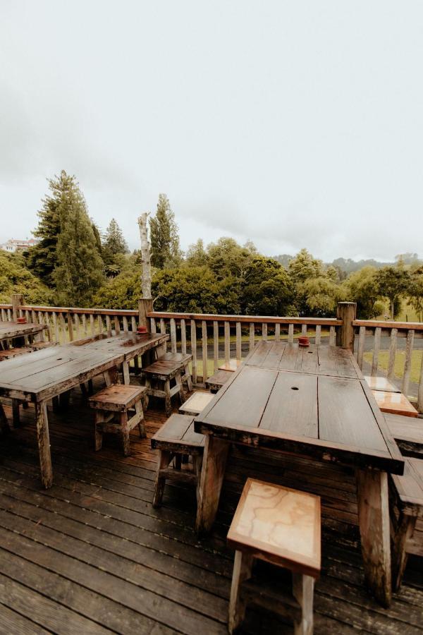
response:
[[[49,176],[131,248],[168,195],[183,248],[423,255],[423,2],[0,0],[0,241]]]

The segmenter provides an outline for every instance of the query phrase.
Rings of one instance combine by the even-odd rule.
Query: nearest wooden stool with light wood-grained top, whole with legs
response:
[[[244,619],[247,601],[293,617],[295,635],[313,632],[314,578],[320,573],[320,498],[248,478],[228,532],[235,548],[228,631]],[[292,595],[263,595],[250,581],[254,558],[293,574]]]

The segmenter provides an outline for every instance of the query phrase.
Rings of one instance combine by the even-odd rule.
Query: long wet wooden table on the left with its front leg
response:
[[[53,483],[47,401],[101,373],[116,380],[118,365],[129,383],[129,362],[135,356],[164,344],[166,334],[123,333],[109,338],[89,338],[65,346],[52,346],[0,365],[0,397],[35,403],[41,480],[45,488]],[[110,381],[109,380],[109,381]],[[0,404],[0,424],[6,422]]]

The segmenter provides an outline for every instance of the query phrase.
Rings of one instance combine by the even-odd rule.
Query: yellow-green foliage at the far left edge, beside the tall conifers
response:
[[[0,250],[0,302],[9,303],[12,294],[23,294],[29,304],[49,305],[51,291],[27,269],[21,253]]]

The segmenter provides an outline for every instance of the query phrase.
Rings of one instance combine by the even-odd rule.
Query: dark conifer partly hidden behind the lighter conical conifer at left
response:
[[[27,253],[27,265],[48,286],[54,285],[57,265],[57,241],[61,231],[59,205],[62,197],[71,192],[75,179],[62,170],[59,176],[48,179],[50,193],[42,199],[38,212],[38,226],[33,232],[41,240]]]

